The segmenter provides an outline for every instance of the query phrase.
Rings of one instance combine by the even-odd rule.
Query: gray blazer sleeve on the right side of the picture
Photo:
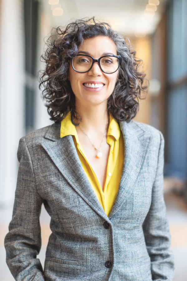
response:
[[[152,280],[172,281],[174,258],[170,251],[170,230],[164,202],[164,138],[160,133],[156,177],[152,186],[151,207],[143,224],[146,247],[151,259]]]

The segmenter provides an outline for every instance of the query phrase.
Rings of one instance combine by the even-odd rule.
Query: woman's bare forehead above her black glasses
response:
[[[79,47],[79,51],[89,52],[91,56],[102,56],[103,53],[117,55],[115,43],[106,36],[85,39],[83,44]]]

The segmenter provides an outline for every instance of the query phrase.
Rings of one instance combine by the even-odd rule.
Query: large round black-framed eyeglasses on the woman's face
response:
[[[76,57],[74,57],[71,60],[71,65],[75,71],[80,73],[85,73],[88,72],[93,67],[93,64],[95,62],[97,62],[100,69],[104,73],[111,74],[118,70],[119,60],[120,60],[120,56],[114,56],[114,55],[103,56],[100,57],[98,60],[95,60],[91,56],[78,54]]]

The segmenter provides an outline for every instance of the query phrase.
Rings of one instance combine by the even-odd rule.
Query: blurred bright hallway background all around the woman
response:
[[[187,280],[187,0],[0,0],[0,273],[12,217],[19,139],[48,126],[37,72],[52,27],[95,16],[130,39],[143,59],[150,89],[136,120],[165,137],[165,202],[175,255],[175,281]],[[50,218],[42,207],[44,264]]]

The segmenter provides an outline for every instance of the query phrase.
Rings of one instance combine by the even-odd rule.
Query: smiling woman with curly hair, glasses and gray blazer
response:
[[[14,278],[172,280],[163,137],[131,121],[147,88],[141,61],[94,19],[57,28],[43,58],[43,96],[55,123],[20,140],[5,238]],[[42,203],[52,231],[44,272],[36,258]]]

